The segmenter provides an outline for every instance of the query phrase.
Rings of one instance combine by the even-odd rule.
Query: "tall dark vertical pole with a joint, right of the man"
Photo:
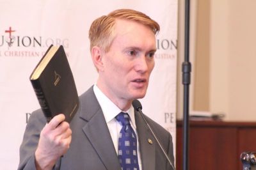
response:
[[[191,63],[189,63],[189,0],[185,1],[185,51],[184,62],[182,63],[182,84],[184,85],[184,105],[183,105],[183,169],[189,169],[189,84]]]

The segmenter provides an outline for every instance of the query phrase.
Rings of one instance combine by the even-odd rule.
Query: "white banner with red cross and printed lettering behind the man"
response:
[[[0,0],[0,167],[17,169],[29,115],[40,106],[29,75],[49,45],[63,45],[79,95],[97,80],[88,29],[94,19],[118,8],[139,10],[161,26],[156,66],[143,112],[171,132],[175,144],[177,0]]]

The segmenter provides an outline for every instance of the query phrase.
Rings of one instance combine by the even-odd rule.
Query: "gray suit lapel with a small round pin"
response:
[[[154,170],[156,167],[156,141],[140,113],[136,111],[134,111],[134,113],[136,128],[139,135],[142,168],[147,170]],[[148,142],[148,139],[152,141],[152,144]]]

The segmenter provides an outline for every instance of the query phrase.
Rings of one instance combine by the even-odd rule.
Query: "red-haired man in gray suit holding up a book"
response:
[[[80,107],[70,124],[63,114],[49,123],[41,110],[31,114],[18,169],[125,170],[118,159],[122,156],[118,137],[124,126],[116,118],[120,112],[129,115],[137,141],[134,162],[138,167],[132,169],[173,169],[141,114],[132,109],[134,99],[145,97],[158,31],[157,22],[134,10],[115,10],[96,19],[89,38],[97,83],[79,97]],[[173,164],[172,136],[145,118]]]

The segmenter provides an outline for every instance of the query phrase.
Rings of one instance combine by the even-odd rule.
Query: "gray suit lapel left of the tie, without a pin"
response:
[[[88,137],[106,169],[121,169],[108,125],[93,89],[90,88],[85,95],[86,98],[81,98],[83,106],[80,114],[80,118],[86,121],[83,132]]]

